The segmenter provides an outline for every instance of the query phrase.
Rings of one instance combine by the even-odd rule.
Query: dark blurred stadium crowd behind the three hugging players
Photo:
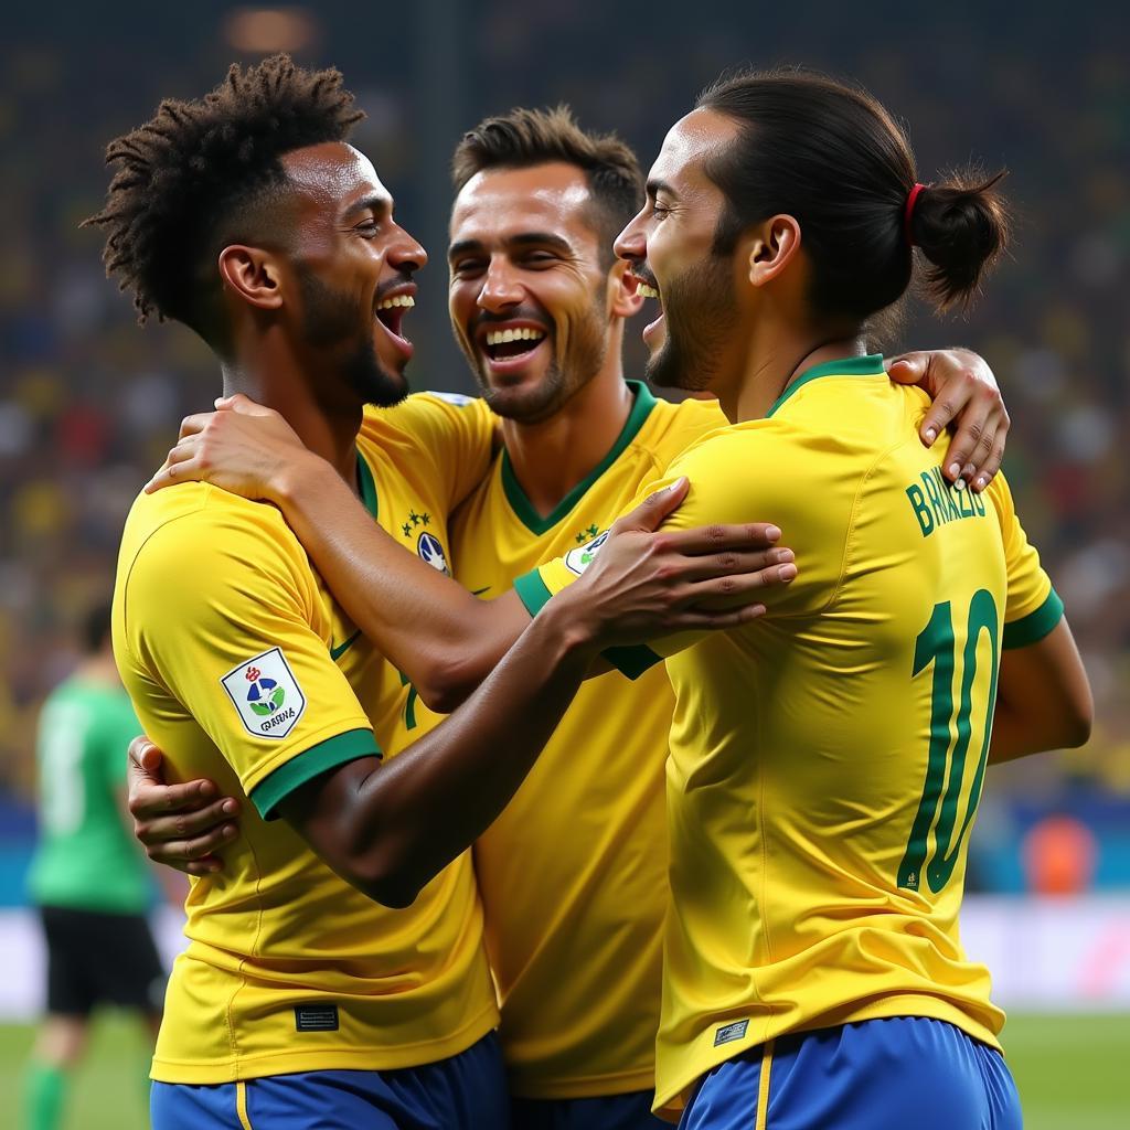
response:
[[[162,97],[202,94],[231,61],[280,47],[345,72],[368,114],[356,141],[432,253],[408,323],[417,388],[471,391],[447,341],[446,166],[485,114],[564,101],[646,165],[723,68],[801,63],[858,79],[904,119],[921,180],[971,157],[1007,166],[1017,241],[983,301],[945,322],[912,306],[883,346],[962,344],[992,365],[1012,415],[1006,470],[1067,603],[1097,725],[1081,750],[993,772],[971,881],[1130,887],[1130,8],[802,7],[414,0],[263,12],[198,0],[6,16],[0,905],[21,897],[38,705],[75,662],[81,614],[110,590],[131,499],[181,417],[219,391],[186,330],[137,327],[104,277],[98,234],[78,225],[99,207],[111,138]],[[1032,836],[1048,818],[1061,823]],[[1026,870],[1057,827],[1077,864],[1066,879]]]

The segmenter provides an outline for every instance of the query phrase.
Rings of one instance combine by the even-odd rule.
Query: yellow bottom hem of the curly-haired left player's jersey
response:
[[[243,1079],[263,1079],[275,1075],[294,1075],[301,1071],[395,1071],[402,1068],[426,1067],[466,1052],[497,1026],[498,1010],[492,1005],[459,1032],[444,1040],[398,1044],[392,1049],[337,1048],[319,1052],[308,1050],[266,1052],[259,1055],[241,1055],[234,1062],[225,1063],[199,1063],[154,1057],[149,1078],[154,1083],[208,1086],[238,1083]]]

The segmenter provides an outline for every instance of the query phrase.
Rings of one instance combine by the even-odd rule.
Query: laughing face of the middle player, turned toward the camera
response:
[[[584,173],[553,163],[488,169],[451,215],[452,325],[499,416],[553,416],[609,347],[608,270]]]

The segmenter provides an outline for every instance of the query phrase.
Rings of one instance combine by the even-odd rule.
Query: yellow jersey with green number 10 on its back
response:
[[[799,574],[751,625],[621,657],[671,655],[676,695],[657,1110],[789,1032],[925,1016],[997,1046],[958,938],[968,831],[1001,647],[1062,605],[1003,478],[945,483],[927,403],[880,357],[833,362],[669,468],[690,480],[672,527],[773,521]],[[582,556],[523,582],[528,603]]]

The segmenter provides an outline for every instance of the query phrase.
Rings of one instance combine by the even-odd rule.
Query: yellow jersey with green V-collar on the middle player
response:
[[[716,402],[635,402],[611,450],[541,516],[503,451],[452,527],[455,575],[490,599],[588,542],[689,443]],[[577,694],[529,777],[475,845],[511,1089],[531,1098],[651,1090],[655,1081],[675,699],[661,667]]]

